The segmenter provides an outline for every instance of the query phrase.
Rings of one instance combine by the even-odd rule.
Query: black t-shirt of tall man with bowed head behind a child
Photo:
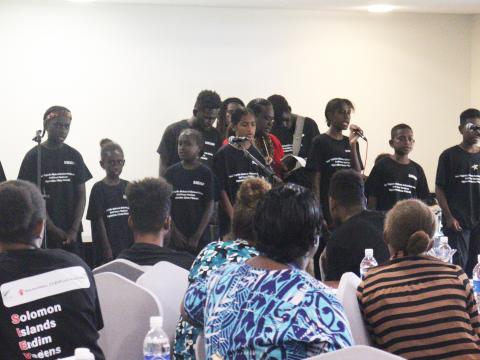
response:
[[[177,150],[178,137],[183,130],[189,128],[190,125],[188,123],[188,120],[180,120],[176,123],[169,125],[165,129],[162,140],[160,141],[160,145],[158,146],[157,153],[160,155],[164,155],[167,158],[167,163],[165,164],[166,167],[170,167],[180,161]],[[221,135],[215,128],[210,128],[208,130],[196,130],[202,133],[203,139],[205,141],[203,155],[201,156],[200,160],[203,164],[207,165],[209,168],[212,168],[213,156],[222,145]]]

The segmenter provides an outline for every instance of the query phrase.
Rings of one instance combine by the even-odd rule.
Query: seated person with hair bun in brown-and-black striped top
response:
[[[372,340],[406,359],[479,359],[480,324],[463,270],[422,255],[435,218],[419,200],[398,202],[385,220],[392,257],[367,272],[358,299]]]

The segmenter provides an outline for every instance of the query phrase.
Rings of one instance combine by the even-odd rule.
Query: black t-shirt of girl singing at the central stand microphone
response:
[[[254,147],[250,146],[248,152],[266,165],[264,157]],[[213,159],[213,171],[232,205],[235,203],[237,191],[241,183],[250,177],[261,177],[262,170],[252,159],[244,154],[243,150],[234,148],[230,144],[223,145]]]

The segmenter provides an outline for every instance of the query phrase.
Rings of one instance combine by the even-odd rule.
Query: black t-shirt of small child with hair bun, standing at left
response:
[[[128,181],[122,179],[118,185],[99,181],[93,185],[88,202],[87,219],[103,219],[114,258],[133,244],[133,233],[128,226],[130,208],[125,195],[127,185]],[[100,260],[101,244],[94,245],[95,257]]]

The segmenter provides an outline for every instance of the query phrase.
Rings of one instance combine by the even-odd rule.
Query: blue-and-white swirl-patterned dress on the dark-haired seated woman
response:
[[[184,301],[204,324],[208,359],[297,360],[353,343],[337,298],[298,269],[226,265],[192,284]]]

